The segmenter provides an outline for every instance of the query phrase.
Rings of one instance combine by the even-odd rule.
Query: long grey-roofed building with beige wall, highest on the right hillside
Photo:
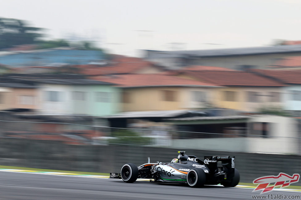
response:
[[[148,61],[170,69],[189,65],[218,66],[235,70],[265,69],[279,59],[301,56],[301,45],[229,48],[213,50],[144,50]]]

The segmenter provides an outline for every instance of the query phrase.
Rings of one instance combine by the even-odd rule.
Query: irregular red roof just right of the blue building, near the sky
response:
[[[106,74],[133,74],[138,70],[157,66],[153,65],[151,62],[145,61],[142,58],[132,58],[132,57],[115,57],[110,66],[95,66],[95,65],[81,65],[77,66],[80,69],[81,74],[98,76]]]

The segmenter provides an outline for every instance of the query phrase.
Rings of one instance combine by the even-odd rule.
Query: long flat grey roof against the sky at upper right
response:
[[[147,58],[168,58],[188,56],[235,56],[235,55],[252,55],[252,54],[273,54],[301,52],[301,45],[279,45],[279,46],[261,46],[247,48],[229,48],[229,49],[210,49],[210,50],[184,50],[184,51],[157,51],[145,50],[148,52]],[[157,55],[156,55],[157,54]]]

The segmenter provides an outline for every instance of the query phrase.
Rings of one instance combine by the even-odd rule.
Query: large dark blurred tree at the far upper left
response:
[[[28,26],[23,20],[0,18],[0,49],[34,44],[43,36],[41,31],[41,28]]]

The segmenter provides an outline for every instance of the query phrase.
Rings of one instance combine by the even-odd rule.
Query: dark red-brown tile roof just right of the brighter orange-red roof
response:
[[[270,78],[244,71],[186,71],[184,74],[222,86],[285,86]]]

